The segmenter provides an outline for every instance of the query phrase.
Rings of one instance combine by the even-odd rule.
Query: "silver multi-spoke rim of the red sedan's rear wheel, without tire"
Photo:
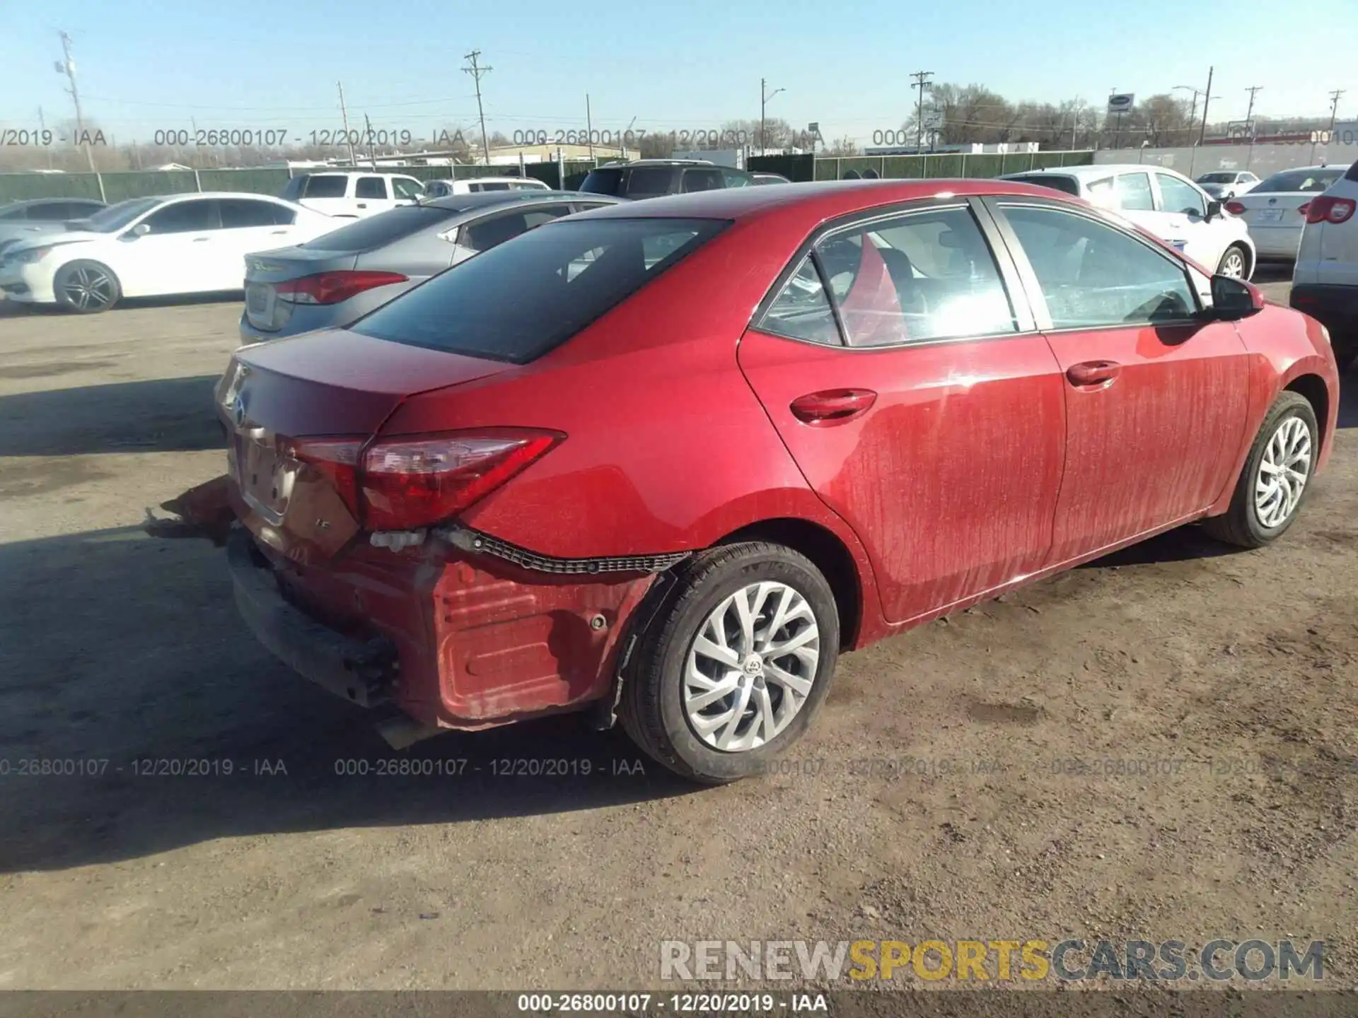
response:
[[[689,725],[722,752],[765,745],[805,704],[819,662],[820,628],[807,599],[786,584],[748,584],[708,615],[689,647]]]

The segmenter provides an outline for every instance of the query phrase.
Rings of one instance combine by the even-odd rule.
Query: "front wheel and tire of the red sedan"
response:
[[[1258,548],[1291,527],[1310,489],[1320,452],[1316,413],[1298,392],[1283,392],[1264,417],[1230,508],[1203,521],[1211,536],[1243,548]]]

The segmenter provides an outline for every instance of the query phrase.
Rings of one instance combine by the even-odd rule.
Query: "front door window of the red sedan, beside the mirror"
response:
[[[1002,204],[1054,328],[1179,322],[1198,309],[1181,262],[1062,209]]]

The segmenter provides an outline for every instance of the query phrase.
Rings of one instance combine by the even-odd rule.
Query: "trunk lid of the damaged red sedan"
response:
[[[401,402],[512,366],[344,330],[238,350],[217,388],[236,514],[293,561],[331,558],[359,532],[344,468]]]

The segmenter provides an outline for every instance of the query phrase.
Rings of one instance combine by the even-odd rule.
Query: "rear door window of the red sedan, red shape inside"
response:
[[[966,208],[911,212],[816,244],[850,346],[1017,331],[980,227]]]

